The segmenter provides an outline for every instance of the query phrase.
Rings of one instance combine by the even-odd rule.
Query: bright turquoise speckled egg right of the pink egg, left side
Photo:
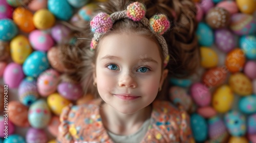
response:
[[[34,51],[23,64],[23,71],[26,76],[38,77],[42,71],[49,67],[47,55],[45,52]]]

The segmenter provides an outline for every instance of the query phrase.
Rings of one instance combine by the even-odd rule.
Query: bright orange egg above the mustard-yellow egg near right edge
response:
[[[245,56],[241,49],[234,49],[229,52],[225,59],[225,65],[231,73],[241,71],[245,64]]]

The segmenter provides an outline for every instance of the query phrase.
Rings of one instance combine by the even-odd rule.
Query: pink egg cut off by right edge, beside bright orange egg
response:
[[[256,79],[256,62],[247,61],[244,66],[244,73],[250,79]]]

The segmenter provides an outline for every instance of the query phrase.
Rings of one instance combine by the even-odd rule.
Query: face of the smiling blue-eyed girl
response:
[[[126,114],[150,105],[167,75],[157,44],[123,32],[104,37],[98,48],[94,80],[104,102]]]

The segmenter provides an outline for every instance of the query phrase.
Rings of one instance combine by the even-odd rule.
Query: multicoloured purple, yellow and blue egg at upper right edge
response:
[[[255,34],[256,19],[249,14],[233,14],[230,20],[230,29],[237,35]]]

